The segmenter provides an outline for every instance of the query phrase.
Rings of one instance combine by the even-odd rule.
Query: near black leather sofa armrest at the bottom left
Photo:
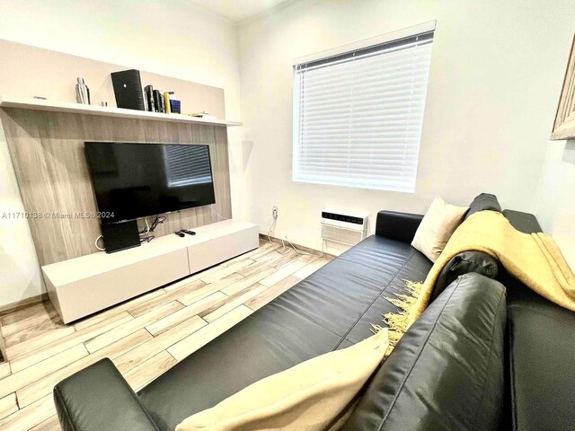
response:
[[[63,431],[159,430],[108,358],[57,383],[54,403]]]

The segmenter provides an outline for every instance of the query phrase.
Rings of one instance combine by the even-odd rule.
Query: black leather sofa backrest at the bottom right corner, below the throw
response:
[[[575,429],[575,312],[517,280],[508,291],[511,429]]]

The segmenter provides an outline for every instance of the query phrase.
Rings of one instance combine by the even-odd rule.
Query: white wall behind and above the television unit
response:
[[[185,0],[0,0],[0,39],[224,88],[226,118],[241,119],[236,24]],[[244,202],[240,134],[229,129],[234,216]],[[5,142],[0,204],[0,213],[23,209]],[[27,222],[0,219],[0,251],[0,306],[40,295]]]

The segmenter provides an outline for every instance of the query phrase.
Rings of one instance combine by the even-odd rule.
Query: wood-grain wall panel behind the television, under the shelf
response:
[[[112,141],[209,145],[215,208],[223,217],[232,216],[225,127],[17,109],[0,110],[0,119],[29,213],[96,212],[84,141]],[[192,208],[168,215],[154,234],[217,221],[209,207]],[[97,251],[94,241],[101,231],[96,218],[42,216],[29,218],[29,223],[40,266]]]

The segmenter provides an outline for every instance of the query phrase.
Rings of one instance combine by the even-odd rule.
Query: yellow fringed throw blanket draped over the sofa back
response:
[[[546,233],[521,233],[502,214],[480,211],[459,225],[425,282],[419,286],[408,283],[411,292],[403,295],[404,312],[385,316],[396,332],[407,330],[426,309],[433,286],[447,262],[461,252],[472,250],[490,254],[509,274],[536,293],[575,311],[575,277],[553,238]],[[397,334],[394,336],[397,338]]]

